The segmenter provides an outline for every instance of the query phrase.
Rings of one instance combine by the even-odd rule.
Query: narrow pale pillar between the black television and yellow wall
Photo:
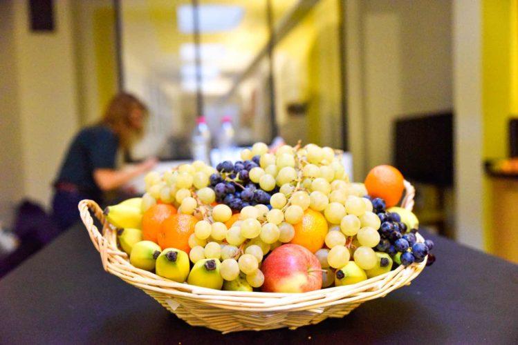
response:
[[[483,248],[481,0],[453,6],[456,239]]]

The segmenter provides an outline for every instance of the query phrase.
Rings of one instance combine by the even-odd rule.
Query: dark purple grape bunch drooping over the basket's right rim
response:
[[[372,206],[381,221],[378,229],[381,239],[376,250],[391,255],[394,262],[400,262],[403,266],[423,262],[427,255],[427,266],[435,262],[435,256],[429,253],[434,247],[432,240],[427,239],[424,243],[418,243],[417,229],[408,229],[398,213],[387,212],[383,199],[372,199]]]

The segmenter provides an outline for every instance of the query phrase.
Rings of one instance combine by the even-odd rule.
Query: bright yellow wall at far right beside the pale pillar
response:
[[[483,159],[508,156],[508,120],[518,110],[517,14],[517,0],[482,3]],[[484,234],[490,253],[496,250],[492,190],[486,177]]]

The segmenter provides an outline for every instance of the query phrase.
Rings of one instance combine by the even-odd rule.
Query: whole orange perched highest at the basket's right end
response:
[[[403,175],[394,166],[376,166],[365,178],[365,188],[371,197],[380,197],[388,207],[396,206],[403,195]]]

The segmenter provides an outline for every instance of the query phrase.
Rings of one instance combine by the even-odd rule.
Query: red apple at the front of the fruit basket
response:
[[[322,288],[322,266],[317,257],[298,244],[275,248],[261,265],[262,290],[269,293],[305,293]]]

